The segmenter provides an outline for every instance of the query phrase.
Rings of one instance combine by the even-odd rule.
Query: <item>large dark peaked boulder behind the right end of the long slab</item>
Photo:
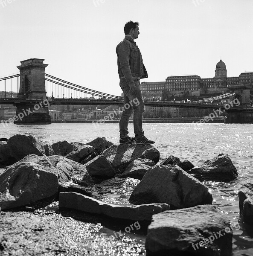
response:
[[[136,204],[166,203],[172,209],[212,204],[204,184],[176,165],[153,166],[134,189],[130,201]]]

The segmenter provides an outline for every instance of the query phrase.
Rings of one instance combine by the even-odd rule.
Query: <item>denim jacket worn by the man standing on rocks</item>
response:
[[[147,70],[142,62],[140,49],[134,42],[131,35],[126,35],[124,40],[116,47],[118,56],[118,72],[119,78],[125,77],[128,85],[134,84],[133,76],[146,78]]]

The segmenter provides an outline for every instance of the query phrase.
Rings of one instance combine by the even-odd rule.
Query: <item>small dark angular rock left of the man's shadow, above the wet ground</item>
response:
[[[116,172],[112,164],[104,157],[97,156],[84,165],[90,176],[113,177]]]

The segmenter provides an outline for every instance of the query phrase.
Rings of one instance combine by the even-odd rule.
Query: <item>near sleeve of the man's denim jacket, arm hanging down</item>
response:
[[[123,75],[128,83],[128,85],[134,85],[134,79],[131,73],[129,65],[130,47],[126,42],[122,42],[119,46],[119,63]]]

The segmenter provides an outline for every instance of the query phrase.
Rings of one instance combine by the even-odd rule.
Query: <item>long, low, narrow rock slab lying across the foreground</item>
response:
[[[59,194],[59,207],[103,214],[112,218],[150,221],[153,214],[170,209],[168,204],[115,205],[75,192]]]

